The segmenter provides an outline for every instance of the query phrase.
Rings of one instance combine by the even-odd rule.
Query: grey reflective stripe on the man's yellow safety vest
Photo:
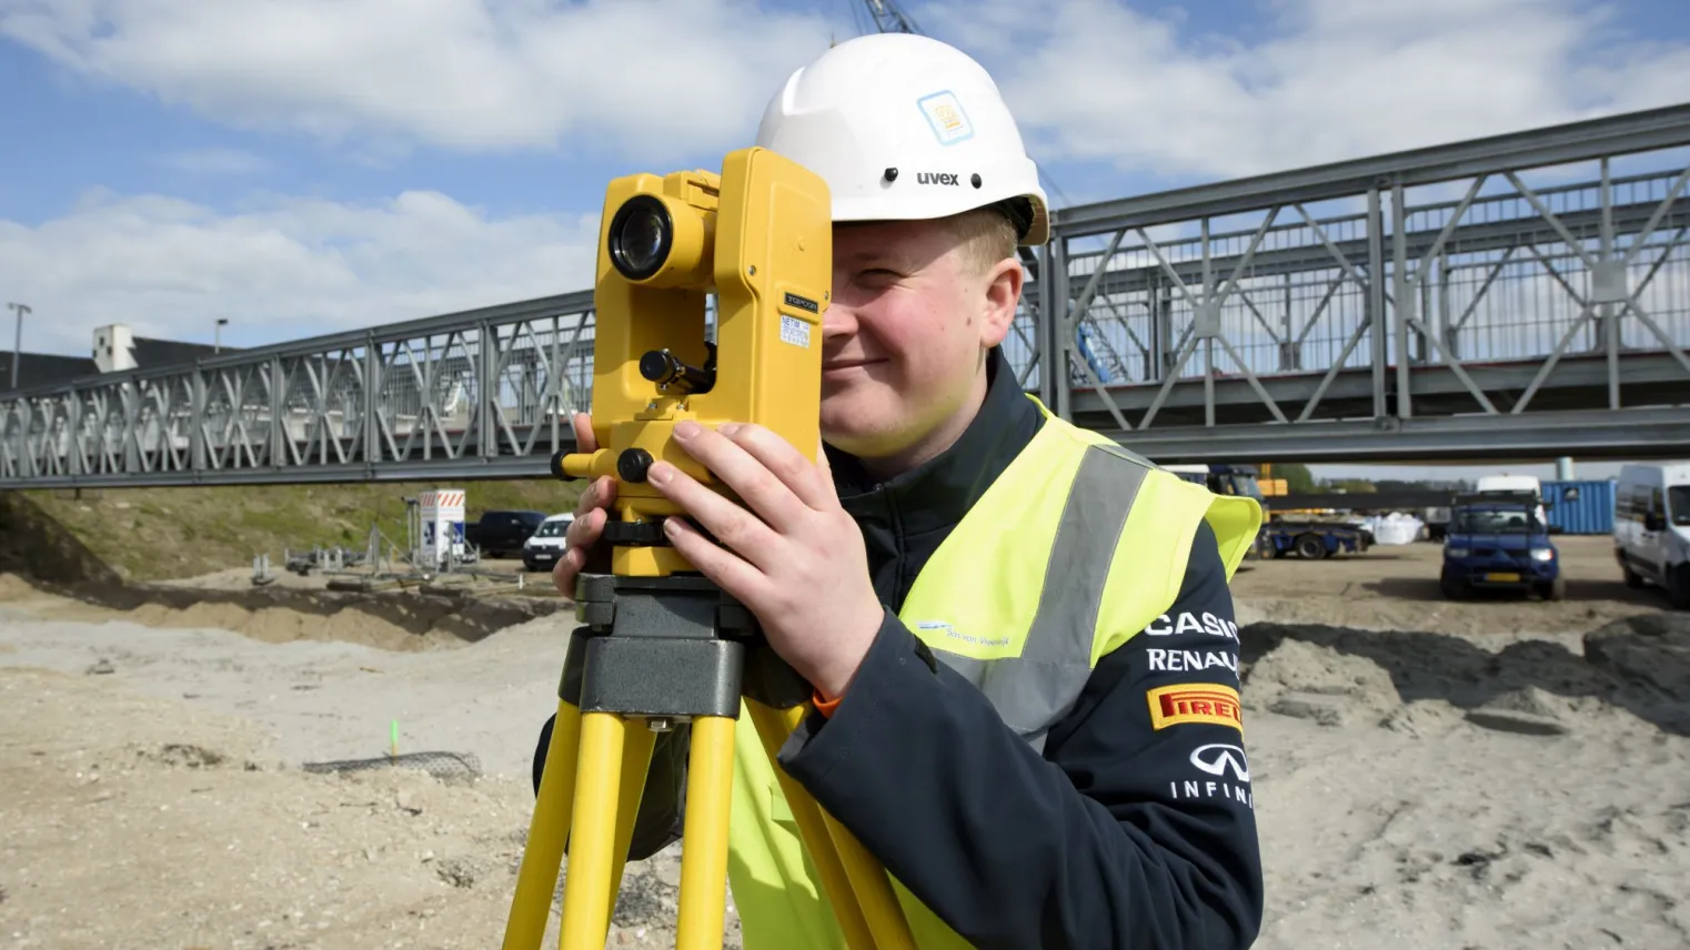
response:
[[[1021,656],[972,659],[935,651],[1038,751],[1044,749],[1046,730],[1073,707],[1092,676],[1098,600],[1148,472],[1149,463],[1104,446],[1087,448],[1056,526],[1038,614]]]

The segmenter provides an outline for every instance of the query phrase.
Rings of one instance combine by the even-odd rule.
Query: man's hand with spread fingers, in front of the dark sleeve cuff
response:
[[[749,424],[713,431],[681,423],[674,438],[745,504],[657,461],[647,480],[723,546],[679,517],[664,521],[669,543],[757,615],[769,646],[799,676],[826,698],[842,695],[880,629],[884,607],[869,580],[862,532],[833,490],[826,455],[818,446],[820,463],[811,463],[781,436]]]

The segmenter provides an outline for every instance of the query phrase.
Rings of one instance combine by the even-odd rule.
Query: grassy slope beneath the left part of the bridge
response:
[[[194,489],[83,489],[17,492],[123,580],[147,581],[250,566],[260,553],[275,570],[282,549],[362,549],[370,526],[406,544],[406,502],[436,487],[463,489],[465,519],[487,509],[575,509],[581,487],[546,478],[515,482],[387,482],[346,485],[230,485]]]

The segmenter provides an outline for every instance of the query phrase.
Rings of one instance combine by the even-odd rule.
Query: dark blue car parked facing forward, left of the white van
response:
[[[1479,590],[1535,592],[1567,597],[1555,531],[1529,494],[1462,495],[1450,510],[1443,539],[1443,597],[1460,600]]]

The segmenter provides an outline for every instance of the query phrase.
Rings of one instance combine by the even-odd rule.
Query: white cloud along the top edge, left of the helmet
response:
[[[0,0],[0,35],[242,128],[656,161],[740,144],[830,24],[755,0]]]

